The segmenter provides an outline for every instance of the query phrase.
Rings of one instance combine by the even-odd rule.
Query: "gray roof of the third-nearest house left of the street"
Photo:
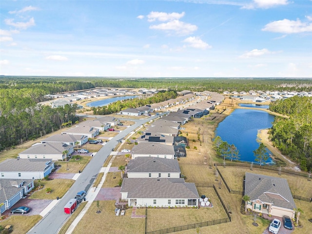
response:
[[[32,147],[20,152],[21,155],[59,155],[63,154],[65,150],[73,148],[73,145],[67,145],[61,142],[47,142],[42,144],[33,145]],[[19,154],[19,155],[20,155]]]

